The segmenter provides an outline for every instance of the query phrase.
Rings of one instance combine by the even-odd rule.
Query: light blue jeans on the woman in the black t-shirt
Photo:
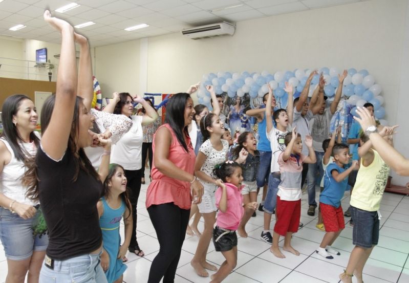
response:
[[[66,260],[54,260],[54,269],[47,267],[44,262],[39,282],[107,283],[101,267],[100,253],[79,255]]]

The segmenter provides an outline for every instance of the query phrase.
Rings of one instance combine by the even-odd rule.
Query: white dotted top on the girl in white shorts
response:
[[[227,152],[229,151],[229,143],[226,140],[221,140],[223,144],[223,149],[218,151],[213,148],[209,139],[205,140],[204,143],[199,148],[199,151],[203,153],[207,158],[200,168],[201,171],[205,172],[208,176],[215,178],[213,176],[213,168],[217,164],[225,162],[227,160]],[[216,178],[215,178],[216,179]],[[200,180],[203,184],[210,185],[209,182]]]

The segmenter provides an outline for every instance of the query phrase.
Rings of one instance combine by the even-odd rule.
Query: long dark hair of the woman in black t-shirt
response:
[[[71,126],[70,137],[68,138],[67,151],[73,154],[74,156],[74,166],[75,173],[72,179],[72,182],[75,182],[78,177],[79,170],[84,170],[89,175],[93,176],[95,179],[99,180],[99,175],[95,168],[92,166],[91,161],[85,155],[83,148],[79,148],[77,152],[76,139],[79,134],[79,107],[83,99],[79,96],[76,97],[75,106],[74,106],[74,115]],[[51,115],[53,114],[55,105],[55,95],[52,95],[46,99],[44,105],[41,109],[41,133],[45,133],[46,129],[50,123]],[[31,200],[38,200],[38,180],[37,177],[37,166],[35,163],[35,158],[27,160],[27,170],[23,177],[23,184],[28,187],[27,197]]]

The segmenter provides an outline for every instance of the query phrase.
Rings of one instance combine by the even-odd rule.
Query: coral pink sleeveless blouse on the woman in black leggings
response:
[[[169,124],[163,124],[158,130],[161,127],[168,128],[172,135],[172,142],[170,144],[169,156],[167,159],[182,170],[193,174],[195,170],[196,156],[190,138],[187,138],[188,153],[186,153],[186,150],[179,143],[174,130]],[[152,150],[155,156],[155,135]],[[149,184],[146,192],[146,208],[151,205],[174,203],[182,209],[190,209],[192,198],[189,182],[180,181],[164,175],[156,168],[155,160],[152,164],[150,176],[152,177],[152,182]]]

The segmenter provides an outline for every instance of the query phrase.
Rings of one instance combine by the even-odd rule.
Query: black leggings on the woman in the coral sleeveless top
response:
[[[149,206],[150,221],[154,225],[160,245],[159,253],[150,266],[148,283],[173,283],[178,267],[190,209],[181,209],[173,203]]]

